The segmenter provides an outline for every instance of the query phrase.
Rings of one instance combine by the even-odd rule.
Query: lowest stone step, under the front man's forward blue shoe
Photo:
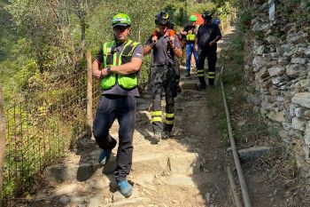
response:
[[[150,198],[160,196],[161,188],[165,187],[182,195],[182,190],[188,189],[197,194],[199,189],[212,186],[211,174],[199,172],[194,175],[170,173],[154,175],[151,173],[139,174],[134,171],[128,178],[133,185],[133,195],[125,198],[120,195],[112,175],[103,175],[99,171],[85,182],[66,181],[53,187],[48,193],[43,192],[43,197],[36,197],[35,201],[64,200],[66,204],[88,204],[88,206],[151,206],[154,200]],[[195,193],[196,192],[196,193]],[[46,196],[48,195],[48,196]],[[174,193],[175,195],[175,193]]]

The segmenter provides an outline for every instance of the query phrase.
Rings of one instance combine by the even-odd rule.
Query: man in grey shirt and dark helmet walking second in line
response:
[[[166,12],[156,15],[158,36],[150,36],[144,45],[144,54],[152,50],[151,66],[151,123],[154,140],[159,143],[162,135],[169,137],[174,126],[174,96],[175,96],[175,56],[182,56],[181,44],[174,32],[169,29],[169,16]],[[161,99],[166,93],[166,120],[163,126]]]

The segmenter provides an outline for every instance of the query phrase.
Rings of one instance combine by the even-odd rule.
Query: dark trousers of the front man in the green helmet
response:
[[[109,134],[114,120],[119,128],[119,147],[116,155],[114,176],[116,181],[125,180],[131,170],[133,135],[136,122],[136,98],[119,95],[103,95],[99,102],[93,125],[94,137],[102,149],[112,150],[116,140]]]

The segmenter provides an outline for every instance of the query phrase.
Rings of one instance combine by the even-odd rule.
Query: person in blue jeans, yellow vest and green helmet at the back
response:
[[[183,30],[181,30],[181,35],[185,36],[186,45],[186,70],[185,77],[190,76],[190,60],[191,54],[194,55],[195,62],[198,62],[198,53],[195,51],[195,37],[198,30],[198,26],[196,25],[197,17],[195,15],[190,15],[189,18],[190,24],[186,25]]]

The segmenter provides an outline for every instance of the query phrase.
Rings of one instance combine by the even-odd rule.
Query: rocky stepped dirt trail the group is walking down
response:
[[[224,36],[220,50],[228,42],[229,36]],[[46,180],[27,206],[233,206],[226,147],[208,105],[208,91],[213,89],[198,91],[197,83],[195,74],[182,77],[172,137],[159,144],[151,143],[151,96],[146,92],[137,100],[133,168],[128,177],[134,193],[129,198],[120,195],[113,178],[116,149],[102,167],[97,163],[96,142],[83,138],[66,158],[47,168]],[[118,137],[117,121],[111,134]]]

